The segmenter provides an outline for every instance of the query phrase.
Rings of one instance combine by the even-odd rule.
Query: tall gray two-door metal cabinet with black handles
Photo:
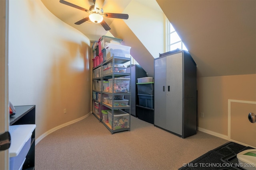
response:
[[[182,138],[196,134],[196,63],[187,51],[154,61],[154,125]]]

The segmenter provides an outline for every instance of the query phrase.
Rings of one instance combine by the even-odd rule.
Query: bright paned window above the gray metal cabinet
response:
[[[168,19],[166,19],[166,26],[167,51],[172,51],[177,48],[188,51],[184,43],[181,41],[178,33],[175,31],[174,27],[168,21]]]

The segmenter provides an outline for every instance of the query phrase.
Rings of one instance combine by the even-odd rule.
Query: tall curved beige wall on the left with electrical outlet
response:
[[[10,101],[36,105],[37,139],[90,113],[90,41],[40,0],[10,0],[9,12]]]

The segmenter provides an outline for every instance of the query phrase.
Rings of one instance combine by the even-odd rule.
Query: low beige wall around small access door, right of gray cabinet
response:
[[[198,78],[198,126],[228,136],[228,99],[256,101],[256,74]]]

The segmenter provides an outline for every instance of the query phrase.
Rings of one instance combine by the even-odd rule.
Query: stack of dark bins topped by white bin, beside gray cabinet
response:
[[[136,106],[138,118],[154,124],[154,82],[152,77],[138,78],[139,105]]]

